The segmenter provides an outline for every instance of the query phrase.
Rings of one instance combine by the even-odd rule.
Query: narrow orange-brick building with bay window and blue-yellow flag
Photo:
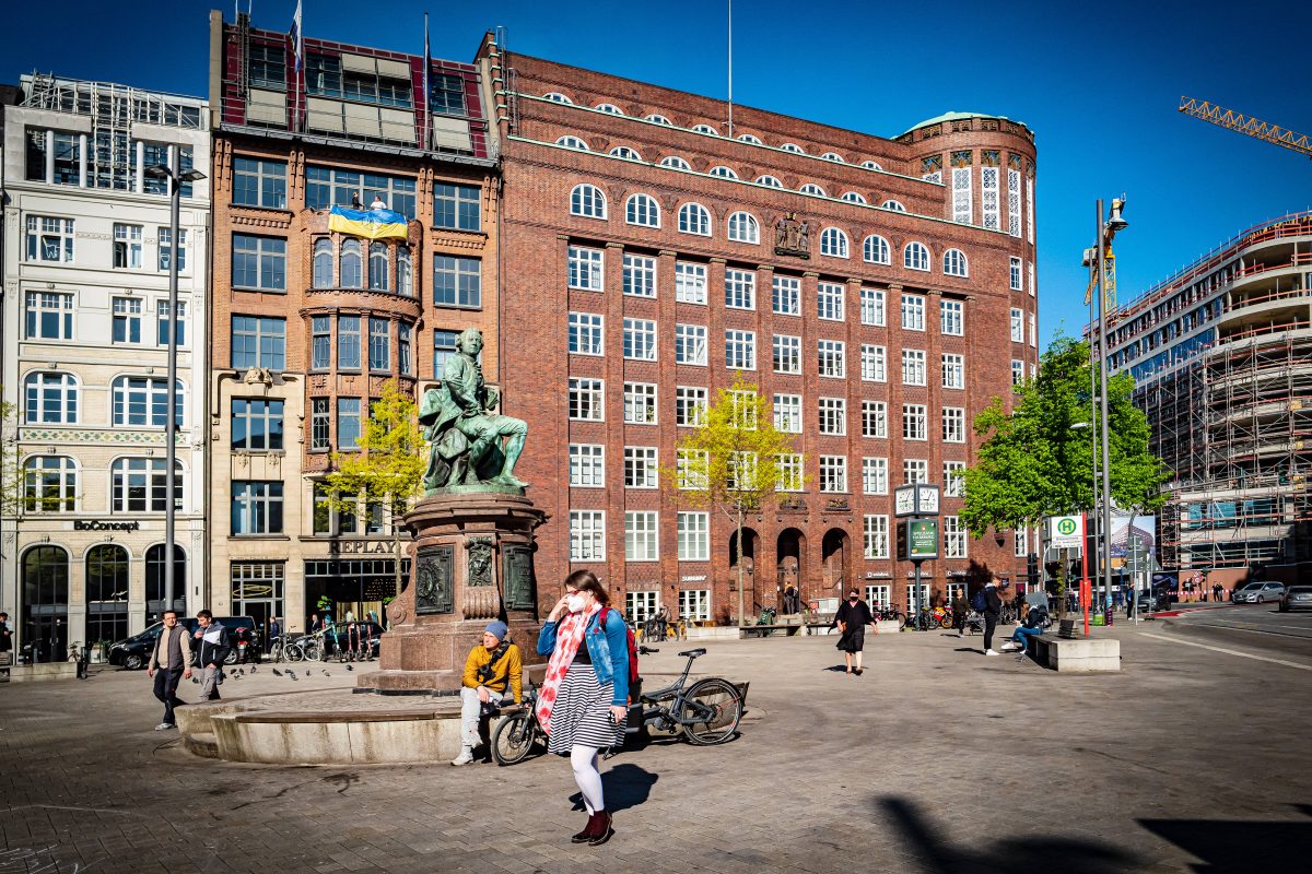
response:
[[[391,522],[327,512],[316,481],[356,446],[388,380],[421,390],[484,330],[497,379],[496,144],[475,66],[210,18],[214,292],[210,307],[211,605],[338,618],[395,595]],[[428,94],[425,94],[425,84]],[[328,231],[380,198],[407,240]]]

